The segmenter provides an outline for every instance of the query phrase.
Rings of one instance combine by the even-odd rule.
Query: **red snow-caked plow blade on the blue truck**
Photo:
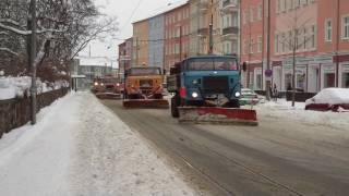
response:
[[[180,123],[257,126],[255,110],[218,107],[180,107]]]

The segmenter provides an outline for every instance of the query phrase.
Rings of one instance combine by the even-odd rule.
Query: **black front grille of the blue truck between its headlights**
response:
[[[205,94],[226,94],[229,91],[228,76],[207,76],[203,78]]]

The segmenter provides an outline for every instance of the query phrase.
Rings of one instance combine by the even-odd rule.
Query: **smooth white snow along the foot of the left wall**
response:
[[[79,101],[69,94],[0,139],[0,195],[67,195]]]

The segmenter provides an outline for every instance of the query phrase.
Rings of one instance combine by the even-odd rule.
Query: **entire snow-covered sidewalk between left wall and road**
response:
[[[0,140],[0,195],[195,195],[89,93],[70,94]]]

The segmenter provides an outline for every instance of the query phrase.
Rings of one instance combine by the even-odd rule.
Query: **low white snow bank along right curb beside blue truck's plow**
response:
[[[311,123],[314,125],[325,125],[334,128],[348,130],[349,114],[336,112],[318,112],[305,110],[304,102],[296,102],[291,107],[290,101],[279,99],[277,102],[267,101],[264,105],[255,107],[258,119],[273,118],[277,121],[279,118],[293,120],[300,123]]]

